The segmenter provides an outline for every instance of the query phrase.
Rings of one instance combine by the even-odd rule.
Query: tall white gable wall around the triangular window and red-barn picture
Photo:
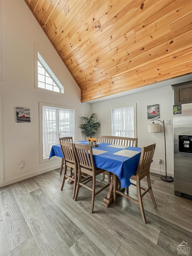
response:
[[[76,108],[77,127],[82,123],[81,116],[91,114],[91,107],[88,103],[80,102],[79,87],[24,0],[1,0],[1,23],[3,77],[0,82],[0,95],[3,116],[4,185],[8,185],[60,166],[60,159],[39,162],[38,102]],[[34,42],[63,84],[64,96],[34,89]],[[15,107],[29,107],[31,123],[16,123]],[[77,137],[85,138],[79,128]],[[23,170],[20,170],[20,161],[24,161]]]

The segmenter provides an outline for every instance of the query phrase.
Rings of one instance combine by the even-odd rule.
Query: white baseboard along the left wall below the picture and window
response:
[[[19,176],[19,177],[13,178],[13,179],[4,180],[4,186],[13,184],[15,182],[18,182],[18,181],[21,181],[21,180],[24,180],[24,179],[29,179],[29,178],[31,178],[33,176],[49,172],[49,171],[58,169],[60,167],[61,167],[61,164],[57,164],[57,165],[54,165],[54,166],[51,166],[51,167],[48,167],[48,168],[44,168],[44,169],[38,170],[36,172],[31,172],[31,173],[24,174],[22,176]]]

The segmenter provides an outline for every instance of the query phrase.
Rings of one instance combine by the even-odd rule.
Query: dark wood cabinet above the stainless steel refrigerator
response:
[[[175,105],[192,103],[192,81],[171,85],[174,90]]]

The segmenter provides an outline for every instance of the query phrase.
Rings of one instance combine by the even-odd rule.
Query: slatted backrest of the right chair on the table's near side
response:
[[[85,167],[95,172],[92,147],[82,144],[75,145],[75,154],[79,167]]]

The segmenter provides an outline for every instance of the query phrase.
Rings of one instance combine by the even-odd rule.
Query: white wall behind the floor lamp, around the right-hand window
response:
[[[138,147],[147,146],[156,143],[155,155],[151,164],[151,171],[161,174],[159,169],[159,159],[162,159],[161,171],[165,175],[165,151],[164,151],[164,134],[163,124],[160,123],[161,132],[149,133],[148,125],[152,124],[151,120],[147,119],[147,106],[159,104],[160,120],[170,120],[170,125],[165,125],[166,132],[166,151],[167,151],[167,174],[173,174],[173,105],[174,91],[171,84],[181,83],[192,80],[192,75],[175,78],[167,81],[169,86],[158,88],[146,92],[140,92],[124,97],[110,99],[102,102],[91,104],[91,113],[96,113],[98,121],[101,122],[101,127],[97,135],[111,135],[110,131],[110,107],[119,107],[122,104],[137,104],[137,137]]]

